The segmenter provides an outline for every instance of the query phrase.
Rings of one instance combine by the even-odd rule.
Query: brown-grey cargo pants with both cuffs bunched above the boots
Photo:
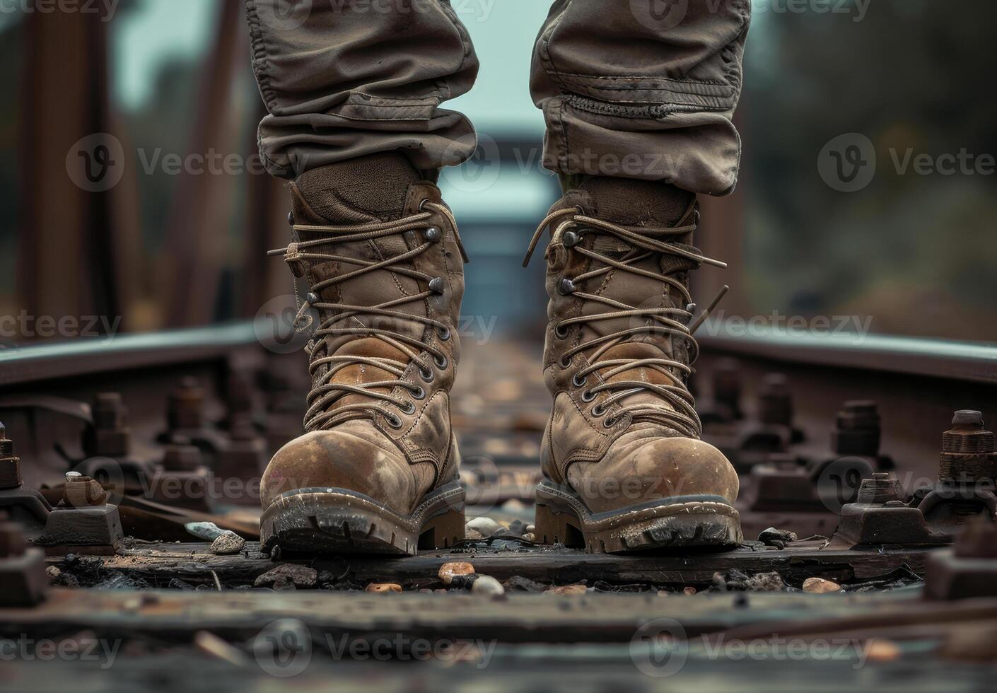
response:
[[[470,121],[440,108],[479,67],[450,0],[246,0],[246,14],[270,173],[394,150],[434,171],[474,154]],[[730,192],[750,20],[751,0],[554,0],[530,70],[544,166]]]

